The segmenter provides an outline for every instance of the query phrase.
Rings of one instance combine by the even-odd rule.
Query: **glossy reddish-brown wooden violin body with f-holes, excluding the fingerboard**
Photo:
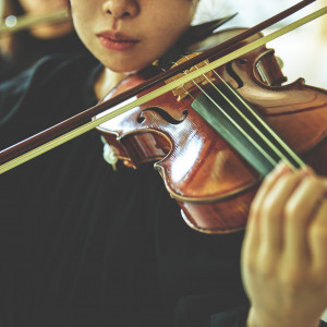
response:
[[[203,50],[241,31],[220,32],[194,45],[192,50]],[[258,37],[240,43],[240,47]],[[302,78],[282,85],[286,77],[274,50],[266,47],[217,68],[208,77],[210,83],[199,82],[201,89],[184,85],[101,124],[98,130],[126,166],[137,168],[155,162],[189,226],[201,232],[226,233],[244,229],[263,175],[192,108],[203,89],[221,83],[216,73],[305,162],[317,173],[327,174],[327,92],[305,85]],[[143,81],[144,76],[133,75],[108,97]]]

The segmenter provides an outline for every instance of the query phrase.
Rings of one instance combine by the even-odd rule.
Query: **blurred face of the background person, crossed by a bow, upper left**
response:
[[[68,10],[69,0],[19,0],[26,14],[38,15]],[[38,38],[53,38],[73,31],[71,21],[35,26],[31,33]]]

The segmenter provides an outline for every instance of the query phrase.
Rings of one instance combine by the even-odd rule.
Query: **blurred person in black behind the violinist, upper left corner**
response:
[[[1,0],[2,21],[9,16],[44,15],[66,10],[68,1]],[[70,19],[32,25],[16,33],[0,35],[0,78],[24,71],[40,58],[55,53],[83,53],[85,47],[76,36]]]

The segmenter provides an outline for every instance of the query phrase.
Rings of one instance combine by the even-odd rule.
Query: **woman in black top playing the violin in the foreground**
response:
[[[1,147],[94,106],[167,52],[196,7],[71,0],[76,32],[100,63],[48,58],[0,86]],[[191,230],[150,165],[113,171],[101,150],[93,131],[1,175],[4,326],[318,326],[327,302],[324,178],[281,166],[263,184],[243,245],[249,304],[243,233]]]

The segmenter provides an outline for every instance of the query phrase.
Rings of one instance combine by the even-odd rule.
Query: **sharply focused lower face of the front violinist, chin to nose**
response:
[[[198,0],[71,0],[75,29],[114,72],[134,72],[164,55],[190,26]]]

